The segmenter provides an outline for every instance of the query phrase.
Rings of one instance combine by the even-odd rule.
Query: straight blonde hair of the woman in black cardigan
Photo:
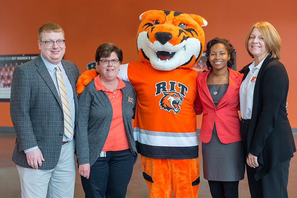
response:
[[[254,58],[254,56],[249,51],[249,37],[253,31],[254,28],[258,28],[263,36],[264,43],[266,45],[267,50],[271,53],[271,58],[277,58],[277,60],[280,59],[280,48],[282,46],[282,40],[279,37],[279,34],[277,33],[277,30],[268,22],[262,21],[255,23],[251,30],[249,31],[249,34],[247,35],[247,39],[245,40],[245,47],[247,48],[247,52],[249,53],[249,56]]]

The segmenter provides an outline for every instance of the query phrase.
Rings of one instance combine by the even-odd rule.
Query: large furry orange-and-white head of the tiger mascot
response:
[[[190,68],[201,57],[207,21],[194,14],[149,10],[140,15],[138,55],[158,70]]]

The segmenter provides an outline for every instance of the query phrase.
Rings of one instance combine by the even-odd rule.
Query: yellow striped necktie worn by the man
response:
[[[56,69],[60,98],[61,98],[63,114],[64,114],[64,134],[68,138],[70,138],[73,134],[73,129],[72,129],[71,113],[70,113],[70,107],[69,107],[68,98],[67,98],[67,92],[64,86],[64,81],[63,81],[59,66],[56,65],[55,69]]]

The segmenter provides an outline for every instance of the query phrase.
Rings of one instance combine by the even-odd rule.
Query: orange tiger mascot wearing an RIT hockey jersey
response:
[[[205,36],[199,15],[149,10],[137,33],[141,61],[120,66],[118,76],[137,94],[134,137],[150,198],[197,198],[200,183],[194,101]],[[84,72],[77,93],[96,76]],[[91,77],[93,76],[93,77]],[[165,101],[166,100],[166,101]]]

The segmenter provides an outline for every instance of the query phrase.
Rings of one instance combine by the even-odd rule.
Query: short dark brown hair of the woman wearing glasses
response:
[[[116,53],[119,58],[120,63],[123,62],[123,52],[121,48],[116,47],[113,43],[103,43],[99,45],[95,54],[95,61],[99,65],[100,58],[110,57],[111,53]]]

